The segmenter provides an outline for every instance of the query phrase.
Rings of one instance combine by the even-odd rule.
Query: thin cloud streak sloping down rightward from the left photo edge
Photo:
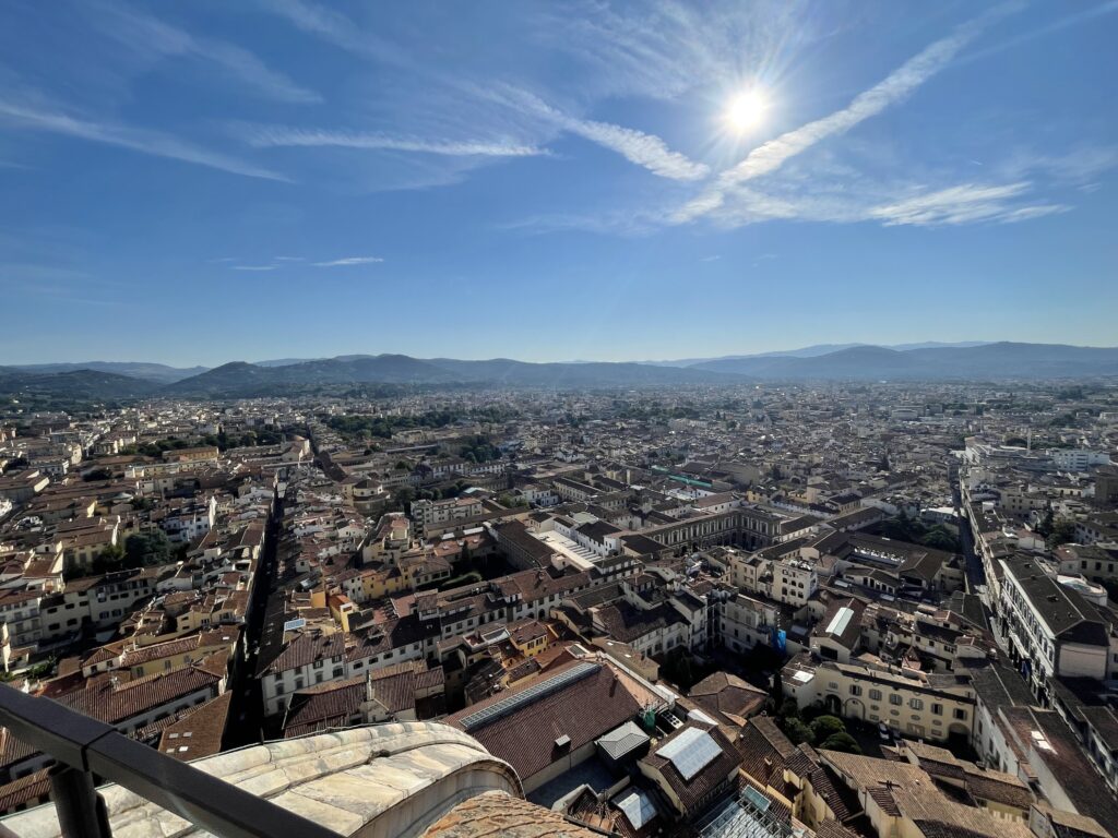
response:
[[[63,134],[94,143],[115,145],[155,158],[180,160],[186,163],[218,169],[246,178],[282,180],[277,172],[262,169],[237,158],[203,149],[171,134],[136,128],[97,120],[72,116],[61,109],[40,104],[29,104],[0,98],[0,122],[31,131]]]

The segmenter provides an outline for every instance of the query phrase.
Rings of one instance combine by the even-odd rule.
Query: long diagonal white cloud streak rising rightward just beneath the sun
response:
[[[777,171],[790,158],[811,149],[827,137],[845,133],[861,122],[877,116],[903,101],[920,85],[942,70],[963,47],[986,27],[1012,11],[1015,6],[999,6],[957,27],[946,38],[931,44],[888,77],[859,94],[841,111],[781,134],[751,151],[745,160],[722,172],[714,184],[688,202],[674,220],[691,221],[708,215],[726,201],[727,192],[755,178]]]

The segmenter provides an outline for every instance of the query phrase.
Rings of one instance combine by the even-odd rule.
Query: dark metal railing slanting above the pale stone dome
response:
[[[50,698],[0,685],[0,725],[57,761],[50,797],[67,838],[111,838],[94,778],[221,838],[338,838],[338,832],[160,753]],[[0,821],[2,823],[2,821]]]

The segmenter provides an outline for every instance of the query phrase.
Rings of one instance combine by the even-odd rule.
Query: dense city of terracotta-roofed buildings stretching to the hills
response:
[[[572,829],[1114,835],[1116,398],[8,417],[4,670],[187,760],[438,722]],[[0,807],[44,799],[0,760]]]

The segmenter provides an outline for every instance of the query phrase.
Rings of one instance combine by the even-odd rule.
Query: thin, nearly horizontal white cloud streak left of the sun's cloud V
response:
[[[423,140],[389,136],[379,132],[322,131],[314,128],[262,127],[253,130],[248,143],[256,147],[366,149],[448,156],[523,158],[546,154],[542,149],[506,141]]]

